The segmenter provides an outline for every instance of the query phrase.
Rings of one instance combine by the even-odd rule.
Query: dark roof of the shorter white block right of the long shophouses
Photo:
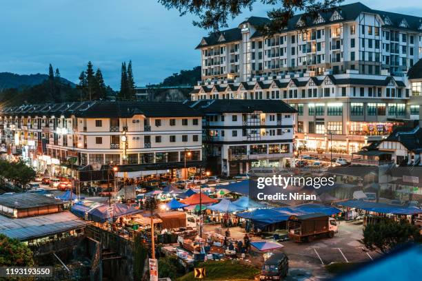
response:
[[[254,111],[265,113],[296,112],[296,110],[287,103],[275,100],[215,99],[188,101],[185,104],[203,114],[252,113]]]

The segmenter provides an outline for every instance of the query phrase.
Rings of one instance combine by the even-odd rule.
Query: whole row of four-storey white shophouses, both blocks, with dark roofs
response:
[[[1,152],[47,174],[117,167],[119,176],[235,175],[285,165],[295,110],[280,101],[87,101],[2,107]],[[217,158],[215,158],[217,157]],[[217,164],[217,165],[215,165]],[[201,168],[201,169],[198,169]]]

